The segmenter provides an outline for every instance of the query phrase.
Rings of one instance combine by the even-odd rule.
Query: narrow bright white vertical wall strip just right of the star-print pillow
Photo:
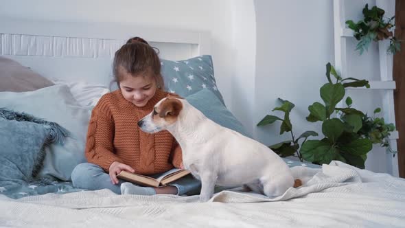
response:
[[[235,116],[253,133],[255,123],[255,68],[256,68],[256,17],[255,5],[249,0],[231,1],[231,27],[233,62],[231,108]]]

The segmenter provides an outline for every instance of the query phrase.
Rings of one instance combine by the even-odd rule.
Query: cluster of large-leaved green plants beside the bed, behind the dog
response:
[[[335,82],[332,81],[332,76]],[[342,78],[329,62],[326,65],[326,77],[328,82],[320,89],[323,104],[314,102],[308,106],[310,114],[306,117],[308,122],[322,122],[323,138],[308,140],[308,137],[319,136],[313,130],[305,131],[299,137],[295,137],[290,122],[290,112],[294,104],[279,98],[281,106],[273,111],[281,111],[283,117],[266,115],[257,126],[281,121],[280,135],[290,132],[291,140],[281,141],[269,148],[281,157],[296,156],[301,161],[316,164],[339,160],[358,168],[364,168],[367,153],[372,149],[373,144],[380,144],[393,152],[388,143],[390,132],[395,130],[393,124],[386,124],[383,118],[369,117],[367,113],[354,109],[351,106],[353,101],[350,97],[345,100],[347,107],[336,107],[345,97],[345,88],[369,88],[369,82],[356,78]],[[380,111],[380,108],[375,109],[374,115]]]

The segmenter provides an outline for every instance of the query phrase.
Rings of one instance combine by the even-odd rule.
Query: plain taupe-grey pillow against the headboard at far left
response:
[[[34,91],[54,85],[28,67],[24,67],[10,58],[0,56],[0,91]]]

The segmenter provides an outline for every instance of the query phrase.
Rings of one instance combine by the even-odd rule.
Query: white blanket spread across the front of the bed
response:
[[[333,161],[292,168],[304,180],[278,198],[224,191],[198,196],[117,195],[109,190],[0,197],[13,227],[404,227],[405,181]],[[273,201],[273,202],[272,202]]]

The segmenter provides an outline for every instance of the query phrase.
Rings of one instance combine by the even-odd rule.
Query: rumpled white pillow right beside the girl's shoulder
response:
[[[52,79],[55,84],[65,84],[69,87],[70,92],[81,106],[93,107],[97,104],[102,95],[110,92],[107,87],[102,84],[89,84],[86,82],[67,82],[57,78]]]

